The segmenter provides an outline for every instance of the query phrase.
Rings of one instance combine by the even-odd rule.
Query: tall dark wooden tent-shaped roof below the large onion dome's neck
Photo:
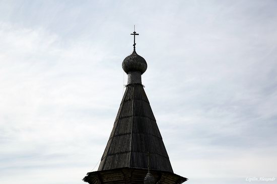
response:
[[[98,171],[130,167],[173,173],[142,84],[128,84]]]

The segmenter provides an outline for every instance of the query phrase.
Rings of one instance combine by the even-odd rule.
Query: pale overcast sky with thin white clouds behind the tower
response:
[[[0,1],[0,183],[84,183],[97,170],[134,24],[174,172],[190,184],[277,177],[276,10],[270,0]]]

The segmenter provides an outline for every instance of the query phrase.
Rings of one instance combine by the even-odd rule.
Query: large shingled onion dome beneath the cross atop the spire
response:
[[[138,55],[135,50],[127,56],[122,62],[123,70],[128,74],[130,71],[138,71],[143,74],[147,69],[146,60]]]

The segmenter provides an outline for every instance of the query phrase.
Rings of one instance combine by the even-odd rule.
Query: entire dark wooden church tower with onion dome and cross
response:
[[[178,184],[187,178],[173,173],[156,119],[142,84],[146,60],[133,52],[122,62],[128,83],[98,171],[89,172],[90,184]]]

